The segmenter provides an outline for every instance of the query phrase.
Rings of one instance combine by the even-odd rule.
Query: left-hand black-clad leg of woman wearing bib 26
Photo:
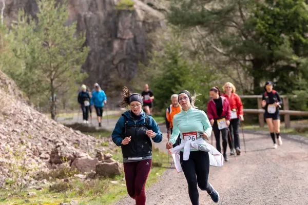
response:
[[[192,153],[190,153],[192,154]],[[199,192],[197,188],[196,165],[189,156],[183,160],[183,152],[180,152],[181,167],[188,183],[188,194],[192,205],[199,205]]]

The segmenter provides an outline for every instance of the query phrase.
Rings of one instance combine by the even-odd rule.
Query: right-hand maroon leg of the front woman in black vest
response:
[[[136,205],[145,205],[145,182],[150,173],[152,165],[152,159],[145,159],[138,161],[136,167],[136,180],[134,181],[134,187],[136,192]]]

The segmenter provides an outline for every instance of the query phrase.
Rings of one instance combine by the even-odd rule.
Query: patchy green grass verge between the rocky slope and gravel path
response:
[[[98,132],[87,133],[93,136],[106,137],[110,136],[110,132]],[[114,153],[111,153],[112,158],[122,163],[121,148],[118,147]],[[147,179],[146,188],[149,188],[155,182],[159,180],[159,176],[163,174],[168,167],[168,155],[164,152],[160,152],[157,148],[152,149],[152,168]],[[59,173],[53,173],[59,175]],[[52,175],[53,176],[53,175]],[[62,175],[61,175],[62,176]],[[69,185],[65,182],[57,181],[57,183],[51,188],[48,185],[44,185],[42,191],[37,190],[25,190],[20,195],[13,195],[8,197],[8,192],[0,191],[0,204],[49,204],[57,205],[61,202],[69,202],[70,200],[77,200],[79,204],[112,204],[117,200],[127,195],[125,181],[123,181],[124,173],[115,176],[113,178],[96,178],[90,181],[81,181],[75,179],[70,181]],[[53,177],[55,178],[55,177]],[[56,178],[61,178],[60,175]],[[111,181],[118,181],[117,184],[111,183]],[[66,190],[66,195],[64,190]],[[28,196],[28,192],[36,192],[36,196]]]

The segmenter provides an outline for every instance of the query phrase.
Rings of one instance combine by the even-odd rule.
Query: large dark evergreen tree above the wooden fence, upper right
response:
[[[262,84],[268,79],[280,79],[281,87],[293,88],[294,81],[285,79],[299,65],[296,50],[304,54],[305,1],[174,0],[171,5],[169,22],[195,30],[200,43],[197,49],[221,72],[237,72],[241,67],[253,78],[254,93],[263,92]]]

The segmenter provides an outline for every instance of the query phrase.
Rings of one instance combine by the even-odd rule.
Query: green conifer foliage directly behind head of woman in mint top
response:
[[[151,88],[157,96],[155,106],[160,110],[164,111],[171,104],[171,95],[178,94],[181,90],[188,90],[191,95],[194,92],[201,93],[196,106],[206,109],[208,90],[215,75],[197,61],[190,62],[183,51],[179,41],[172,41],[166,44],[163,56],[153,58],[150,63],[150,67],[160,71],[151,81]]]

